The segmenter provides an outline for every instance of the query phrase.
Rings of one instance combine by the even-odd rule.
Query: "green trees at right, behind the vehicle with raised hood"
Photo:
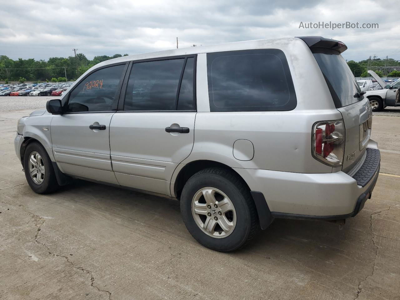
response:
[[[400,62],[397,60],[394,60],[393,58],[386,58],[381,59],[378,58],[377,56],[370,56],[366,60],[361,60],[359,62],[355,62],[354,60],[349,60],[347,62],[348,66],[350,67],[350,70],[353,72],[355,77],[370,77],[371,75],[368,74],[368,70],[376,69],[379,67],[385,67],[385,66],[399,66],[400,70]],[[384,73],[382,71],[375,71],[378,76],[388,76],[388,77],[400,77],[400,71],[399,70],[394,70],[391,71],[390,73]]]

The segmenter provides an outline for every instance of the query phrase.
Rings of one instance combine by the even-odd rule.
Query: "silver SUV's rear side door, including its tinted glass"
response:
[[[195,56],[134,62],[110,124],[112,167],[122,186],[170,195],[194,142]]]

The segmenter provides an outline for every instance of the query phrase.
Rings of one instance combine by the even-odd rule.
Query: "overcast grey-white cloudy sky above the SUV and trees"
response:
[[[45,59],[137,54],[192,44],[320,35],[348,46],[344,58],[400,60],[398,1],[12,0],[0,7],[0,55]],[[299,29],[300,22],[378,23],[379,29]]]

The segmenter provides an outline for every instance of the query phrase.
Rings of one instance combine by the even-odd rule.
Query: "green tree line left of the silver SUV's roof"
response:
[[[18,81],[23,78],[27,81],[51,81],[52,78],[65,76],[68,80],[76,80],[86,70],[99,62],[127,55],[101,55],[88,60],[84,54],[77,53],[76,57],[51,57],[47,61],[33,58],[12,60],[6,55],[0,55],[0,80]]]

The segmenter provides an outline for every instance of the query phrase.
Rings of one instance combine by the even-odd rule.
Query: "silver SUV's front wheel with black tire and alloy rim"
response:
[[[35,193],[48,194],[59,187],[50,157],[38,142],[31,142],[26,147],[24,171],[26,181]]]

